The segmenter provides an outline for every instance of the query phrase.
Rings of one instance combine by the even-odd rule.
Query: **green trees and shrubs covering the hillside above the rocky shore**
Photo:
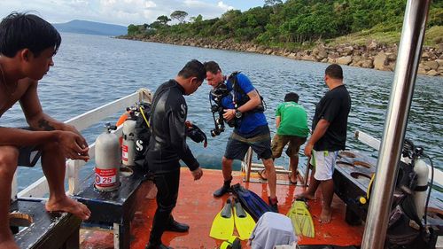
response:
[[[284,2],[284,3],[283,3]],[[248,11],[229,10],[220,18],[202,15],[184,20],[187,12],[175,11],[160,16],[147,27],[131,24],[128,35],[159,35],[177,39],[204,37],[208,40],[245,41],[269,47],[297,48],[300,43],[336,38],[351,33],[377,35],[399,33],[405,11],[404,0],[265,0]],[[170,18],[170,19],[169,19]],[[168,26],[171,19],[178,24]],[[435,27],[437,26],[437,27]],[[428,27],[441,30],[443,1],[432,1]],[[439,31],[434,31],[436,37]]]

